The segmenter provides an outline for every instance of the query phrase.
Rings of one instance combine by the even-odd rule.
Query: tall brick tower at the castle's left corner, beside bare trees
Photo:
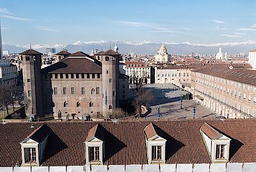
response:
[[[22,61],[26,115],[44,117],[40,52],[29,49],[19,54]]]

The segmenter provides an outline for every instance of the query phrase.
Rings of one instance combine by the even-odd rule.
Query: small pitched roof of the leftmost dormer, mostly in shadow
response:
[[[50,132],[51,130],[49,129],[49,127],[44,124],[35,129],[31,134],[29,134],[25,140],[31,139],[38,143],[42,143],[42,141],[45,140]]]

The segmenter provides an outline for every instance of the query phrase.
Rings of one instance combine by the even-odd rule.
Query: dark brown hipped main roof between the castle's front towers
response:
[[[42,73],[101,73],[101,62],[90,57],[66,57],[42,69]]]

